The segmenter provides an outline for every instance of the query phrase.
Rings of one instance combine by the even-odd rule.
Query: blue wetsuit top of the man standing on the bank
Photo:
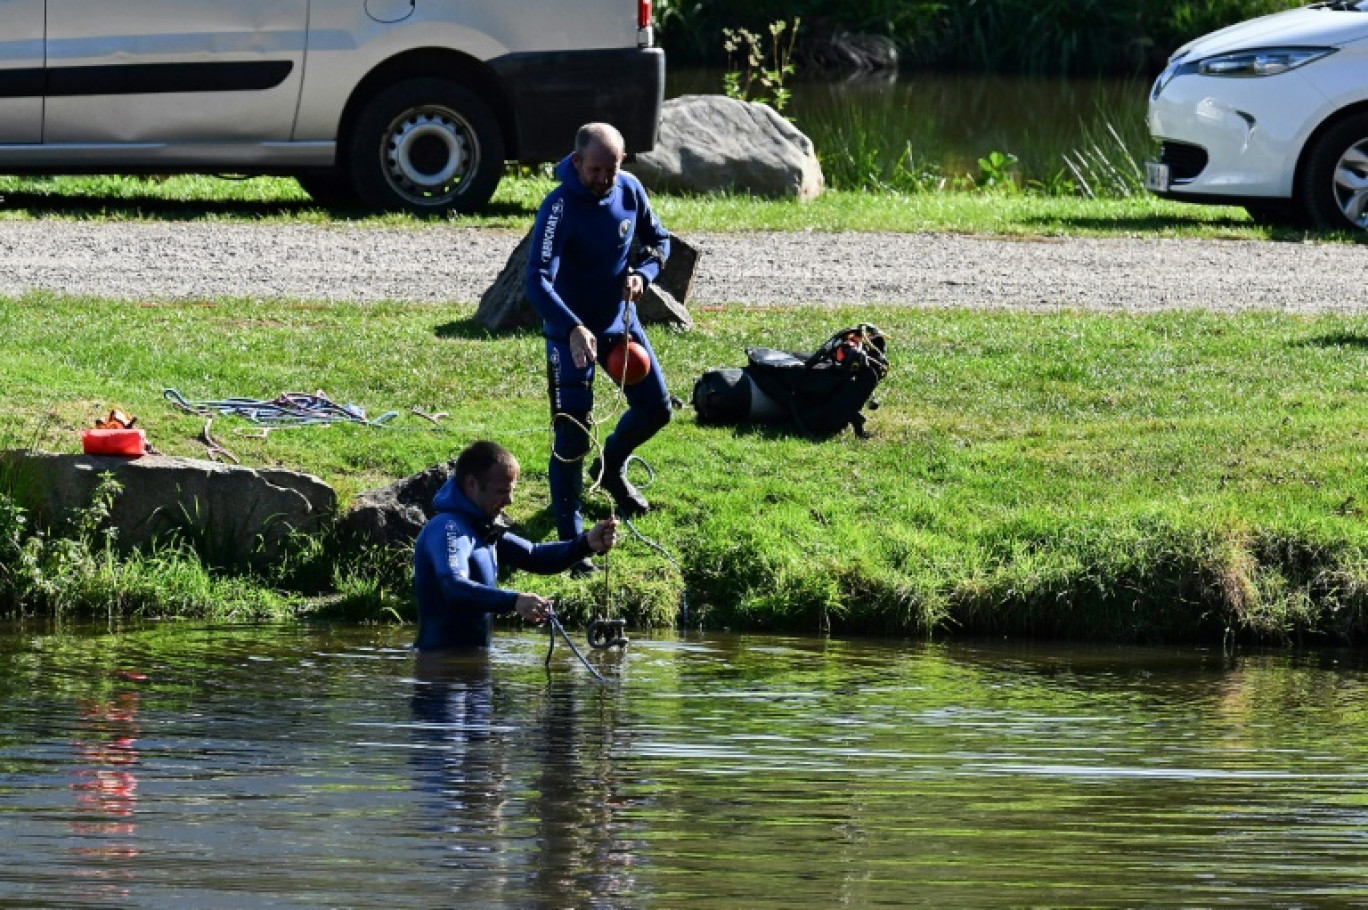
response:
[[[602,335],[622,312],[628,270],[654,282],[670,255],[670,235],[631,174],[620,171],[602,198],[584,186],[569,157],[555,166],[555,175],[561,185],[547,194],[532,226],[527,298],[542,315],[547,338],[568,341],[576,326]],[[633,239],[658,250],[659,259],[629,261]]]

